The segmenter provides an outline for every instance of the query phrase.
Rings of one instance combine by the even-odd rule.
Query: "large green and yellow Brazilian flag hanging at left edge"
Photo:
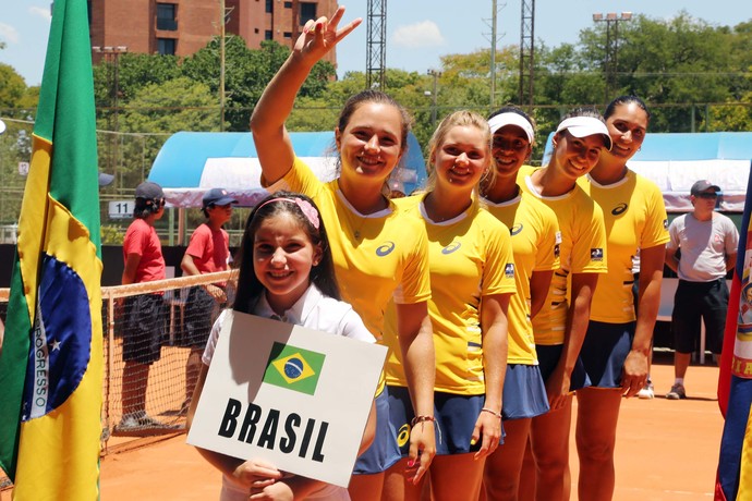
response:
[[[86,0],[56,0],[0,356],[13,498],[99,498],[99,194]]]

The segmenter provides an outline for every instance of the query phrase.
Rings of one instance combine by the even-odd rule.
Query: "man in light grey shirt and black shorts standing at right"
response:
[[[669,400],[687,398],[684,376],[700,338],[700,322],[705,322],[711,352],[720,354],[724,344],[728,308],[726,273],[737,260],[739,232],[729,218],[715,211],[719,194],[717,185],[698,181],[690,191],[692,212],[679,216],[668,227],[671,240],[666,245],[666,266],[679,276],[671,314],[676,379],[666,394]]]

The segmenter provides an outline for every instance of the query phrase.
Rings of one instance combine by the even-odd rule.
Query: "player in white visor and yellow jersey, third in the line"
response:
[[[517,174],[535,140],[532,119],[517,107],[488,118],[496,176],[482,186],[488,211],[509,229],[514,252],[517,294],[509,302],[509,350],[504,381],[504,445],[488,456],[484,491],[488,500],[517,499],[531,420],[548,412],[548,398],[533,337],[534,317],[559,268],[561,233],[556,213],[537,197],[523,194]]]

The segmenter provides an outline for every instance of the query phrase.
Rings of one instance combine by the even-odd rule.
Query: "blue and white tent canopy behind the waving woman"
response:
[[[337,176],[333,132],[290,133],[295,155],[323,181]],[[260,185],[260,166],[250,132],[179,132],[162,146],[148,180],[158,183],[173,206],[201,207],[204,193],[227,188],[241,205],[253,206],[267,195]],[[423,154],[415,136],[392,174],[392,184],[410,193],[425,183]]]

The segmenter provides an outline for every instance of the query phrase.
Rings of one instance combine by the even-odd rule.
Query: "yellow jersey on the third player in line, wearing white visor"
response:
[[[530,320],[530,279],[533,271],[559,269],[561,232],[554,211],[536,197],[520,193],[516,198],[494,204],[488,211],[505,223],[512,236],[517,294],[509,301],[509,356],[507,363],[537,365],[533,325]]]

